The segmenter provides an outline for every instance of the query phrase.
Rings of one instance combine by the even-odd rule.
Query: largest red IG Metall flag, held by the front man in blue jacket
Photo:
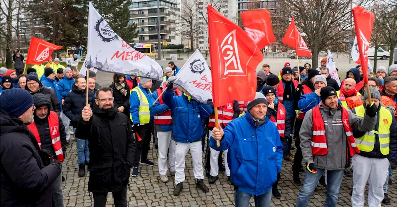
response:
[[[252,101],[262,53],[242,28],[210,5],[207,12],[214,106],[225,105],[227,99]]]

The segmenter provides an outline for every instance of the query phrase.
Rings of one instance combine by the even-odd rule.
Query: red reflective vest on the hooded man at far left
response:
[[[58,161],[62,162],[64,161],[64,152],[62,152],[62,146],[61,146],[61,138],[59,133],[59,120],[58,120],[58,114],[56,114],[54,111],[50,111],[50,115],[48,116],[48,126],[50,128],[51,141],[52,141],[52,146],[54,147],[56,158],[58,159]],[[33,135],[35,135],[37,144],[39,144],[39,147],[41,149],[40,135],[39,135],[39,131],[37,130],[36,123],[33,122],[27,125],[27,128],[33,133]]]

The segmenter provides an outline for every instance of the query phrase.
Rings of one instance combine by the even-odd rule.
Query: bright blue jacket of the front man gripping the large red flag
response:
[[[229,149],[230,179],[240,191],[259,196],[270,189],[281,172],[283,145],[276,125],[266,116],[264,124],[254,125],[249,114],[232,120],[224,129],[220,146],[210,137],[214,150]]]

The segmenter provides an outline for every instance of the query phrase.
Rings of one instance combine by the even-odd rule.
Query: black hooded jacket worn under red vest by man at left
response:
[[[54,146],[52,144],[52,139],[50,135],[50,130],[49,130],[49,124],[48,124],[48,116],[50,115],[50,110],[48,110],[47,116],[44,119],[40,119],[39,117],[36,116],[36,110],[40,108],[41,106],[51,106],[50,101],[47,99],[47,97],[43,94],[36,94],[33,95],[33,100],[35,100],[35,113],[33,113],[33,118],[35,120],[35,124],[37,127],[37,131],[39,132],[40,135],[40,143],[41,143],[41,149],[44,150],[50,150],[52,152],[52,156],[56,158]],[[60,140],[61,140],[61,146],[62,146],[62,152],[64,152],[64,157],[66,155],[66,132],[65,132],[65,127],[64,124],[62,123],[62,119],[58,115],[58,129],[59,129],[59,134],[60,134]]]

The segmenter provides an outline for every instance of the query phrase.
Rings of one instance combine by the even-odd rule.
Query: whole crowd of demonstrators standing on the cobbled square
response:
[[[19,59],[16,51],[15,65]],[[26,74],[23,62],[15,70],[0,68],[2,205],[64,206],[61,166],[72,134],[78,176],[90,171],[94,207],[106,205],[108,192],[116,207],[126,207],[129,177],[155,162],[158,179],[172,177],[173,195],[179,196],[189,185],[189,150],[196,187],[208,192],[205,177],[215,184],[225,171],[238,207],[249,206],[252,196],[256,206],[281,198],[283,161],[293,162],[283,173],[292,171],[293,183],[301,186],[297,207],[308,205],[318,183],[327,187],[324,205],[335,207],[343,175],[353,179],[352,206],[364,206],[367,182],[369,206],[390,203],[387,187],[397,167],[397,65],[370,71],[369,91],[361,66],[348,70],[339,87],[326,58],[318,68],[286,62],[274,73],[263,65],[254,100],[228,100],[217,108],[216,126],[211,99],[200,103],[173,84],[180,70],[173,62],[163,69],[162,82],[114,74],[108,87],[100,87],[93,71],[79,76],[78,62],[77,55],[66,59],[67,67],[50,59]],[[148,158],[151,146],[158,160]]]

